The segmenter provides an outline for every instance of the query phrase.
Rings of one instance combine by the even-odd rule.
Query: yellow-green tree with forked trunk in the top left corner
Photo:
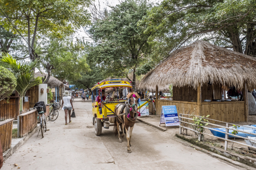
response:
[[[89,4],[90,0],[1,0],[4,17],[0,22],[14,34],[19,31],[26,35],[30,59],[34,61],[38,58],[34,53],[37,34],[60,37],[74,33],[90,22],[86,10]]]

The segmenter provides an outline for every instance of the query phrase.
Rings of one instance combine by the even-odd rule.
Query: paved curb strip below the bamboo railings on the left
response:
[[[29,133],[26,137],[19,138],[19,142],[15,144],[11,144],[11,148],[3,153],[4,160],[8,159],[14,152],[17,151],[30,137],[34,135],[39,129],[37,126],[31,133]]]

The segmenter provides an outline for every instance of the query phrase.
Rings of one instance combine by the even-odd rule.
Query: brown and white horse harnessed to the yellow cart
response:
[[[119,142],[122,142],[120,138],[120,131],[119,128],[121,126],[122,130],[122,137],[124,137],[124,128],[126,131],[126,138],[127,138],[127,152],[131,153],[130,147],[131,145],[131,137],[132,137],[132,129],[136,122],[137,116],[140,116],[138,111],[138,103],[140,101],[140,97],[138,93],[130,92],[127,95],[127,99],[124,104],[119,103],[115,107],[115,115],[118,117],[109,118],[110,123],[114,123],[113,131],[115,135],[118,133]]]

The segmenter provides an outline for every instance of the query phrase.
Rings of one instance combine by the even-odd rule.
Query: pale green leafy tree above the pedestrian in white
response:
[[[53,75],[60,81],[79,79],[80,73],[90,70],[86,63],[87,54],[83,51],[80,42],[73,42],[73,39],[68,36],[61,38],[49,36],[44,37],[41,42],[36,42],[38,48],[35,49],[38,55],[41,55],[45,63],[51,63],[54,66],[53,70],[46,70],[48,75]],[[44,83],[46,82],[47,80]]]

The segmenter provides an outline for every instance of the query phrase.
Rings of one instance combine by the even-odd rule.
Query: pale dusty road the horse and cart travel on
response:
[[[119,143],[110,129],[102,129],[96,136],[92,126],[90,101],[81,98],[74,103],[76,118],[65,126],[64,111],[42,138],[37,133],[8,158],[3,170],[234,170],[233,166],[203,152],[173,140],[162,132],[136,122],[132,133],[131,150],[127,153],[127,140]]]

